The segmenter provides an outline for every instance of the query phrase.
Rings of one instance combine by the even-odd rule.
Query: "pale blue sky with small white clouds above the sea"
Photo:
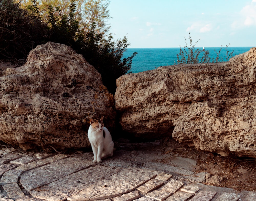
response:
[[[256,0],[110,0],[109,32],[128,48],[256,47]]]

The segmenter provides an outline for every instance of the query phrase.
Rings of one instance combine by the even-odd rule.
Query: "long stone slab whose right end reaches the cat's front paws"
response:
[[[92,165],[91,161],[82,160],[76,157],[60,159],[24,173],[20,178],[20,183],[27,191],[31,191],[39,186],[49,184],[90,165]]]

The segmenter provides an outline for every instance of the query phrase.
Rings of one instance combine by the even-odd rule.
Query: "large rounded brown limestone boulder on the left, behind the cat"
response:
[[[105,116],[105,125],[113,125],[113,95],[70,47],[48,42],[23,66],[7,67],[0,70],[1,141],[24,150],[81,148],[89,146],[91,117]]]

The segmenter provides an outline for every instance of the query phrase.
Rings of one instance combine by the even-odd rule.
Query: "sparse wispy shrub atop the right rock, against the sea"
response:
[[[186,45],[185,45],[184,49],[182,49],[180,46],[180,51],[177,54],[177,63],[178,64],[210,63],[210,62],[217,63],[217,62],[224,61],[222,57],[219,57],[220,51],[222,49],[222,45],[218,52],[214,49],[214,51],[216,52],[216,57],[210,58],[209,50],[195,48],[195,45],[198,43],[198,41],[200,41],[200,39],[197,42],[195,42],[194,45],[192,45],[192,37],[190,36],[190,32],[188,34],[188,39],[189,39],[190,46],[188,46],[188,44],[187,44],[187,39],[186,39],[186,35],[185,35]],[[226,61],[228,60],[229,57],[232,57],[233,51],[234,51],[234,50],[232,52],[228,51],[227,48],[229,45],[226,46],[226,57],[225,57]]]

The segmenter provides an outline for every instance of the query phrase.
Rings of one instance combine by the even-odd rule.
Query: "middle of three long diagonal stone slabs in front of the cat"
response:
[[[66,200],[68,196],[119,172],[119,168],[92,166],[30,191],[30,195],[46,200]]]

